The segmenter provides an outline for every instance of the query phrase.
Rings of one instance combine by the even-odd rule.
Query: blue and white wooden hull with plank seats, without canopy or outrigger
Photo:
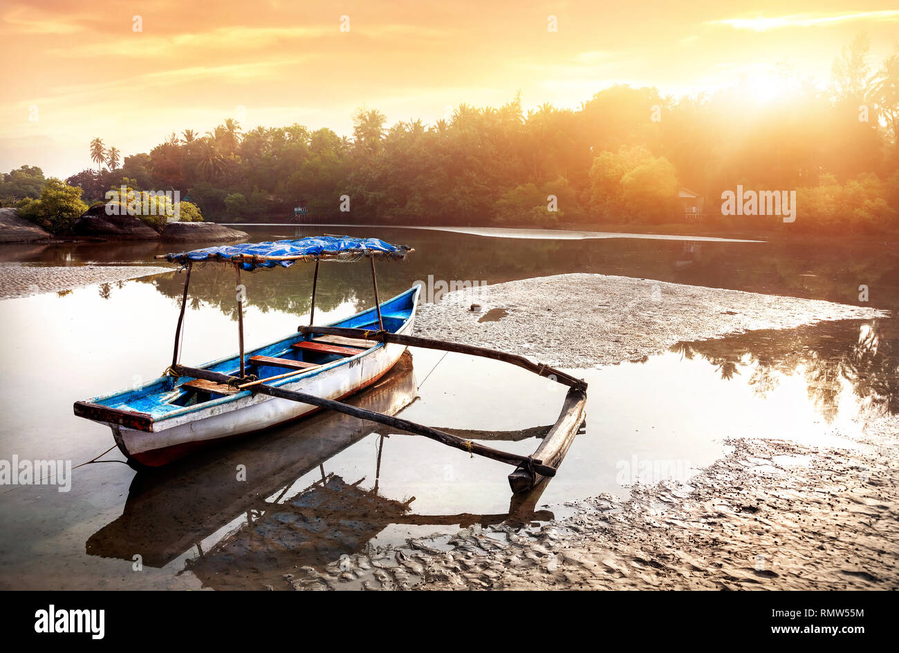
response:
[[[384,328],[394,333],[413,329],[418,288],[380,304]],[[375,309],[334,322],[334,326],[378,329]],[[245,354],[245,375],[260,379],[291,371],[269,384],[340,400],[378,381],[396,364],[404,345],[373,340],[309,336],[294,331]],[[236,375],[237,355],[201,365],[200,369]],[[227,384],[190,375],[161,376],[137,389],[106,394],[76,403],[76,415],[108,423],[122,454],[155,467],[190,453],[210,440],[269,428],[318,410]]]

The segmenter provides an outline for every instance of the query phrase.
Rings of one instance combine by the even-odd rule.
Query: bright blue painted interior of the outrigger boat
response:
[[[415,302],[417,298],[418,287],[412,287],[405,293],[397,295],[392,299],[388,299],[381,304],[381,320],[384,323],[384,329],[396,333],[405,322],[407,322],[414,313]],[[371,307],[362,313],[356,313],[348,318],[337,322],[330,322],[325,326],[350,327],[354,329],[378,330],[378,314],[375,308]],[[347,352],[330,353],[322,350],[298,349],[295,347],[300,342],[309,342],[315,335],[304,336],[301,333],[292,333],[287,338],[271,342],[263,347],[245,352],[245,372],[247,375],[255,375],[258,378],[269,378],[271,376],[287,374],[295,371],[298,366],[304,364],[312,365],[305,372],[298,375],[290,376],[281,380],[273,380],[267,382],[271,385],[280,385],[286,383],[295,383],[298,379],[307,378],[320,374],[325,369],[332,366],[347,365],[355,357],[363,355],[369,349],[383,347],[378,343],[375,347],[369,349],[357,348],[359,353],[355,356],[349,356]],[[326,349],[326,348],[322,348]],[[265,362],[251,362],[254,357],[267,357],[280,359],[280,364],[269,365]],[[294,364],[293,367],[285,367],[284,365]],[[240,358],[237,354],[220,358],[199,366],[213,372],[219,372],[226,375],[239,375]],[[214,405],[219,402],[232,402],[239,397],[249,394],[249,391],[242,391],[233,394],[222,394],[209,392],[199,387],[185,386],[193,381],[190,376],[160,376],[159,378],[144,384],[138,388],[129,388],[120,390],[115,393],[94,397],[88,402],[96,403],[109,408],[118,410],[133,410],[136,412],[147,413],[154,419],[165,419],[174,417],[174,415],[182,414],[191,410],[199,410]]]

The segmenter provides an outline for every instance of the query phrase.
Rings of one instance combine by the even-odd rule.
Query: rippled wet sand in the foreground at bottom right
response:
[[[297,589],[896,589],[897,420],[863,449],[739,440],[690,485],[545,525],[472,526],[290,579]]]

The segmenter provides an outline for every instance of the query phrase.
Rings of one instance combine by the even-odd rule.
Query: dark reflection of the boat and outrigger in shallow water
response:
[[[350,403],[396,415],[416,397],[412,355],[406,352],[389,375]],[[507,437],[539,437],[546,430],[516,431]],[[505,515],[414,515],[414,498],[378,494],[383,439],[392,432],[327,411],[165,468],[138,472],[122,515],[87,540],[87,553],[121,560],[140,555],[142,564],[161,568],[193,550],[195,557],[186,567],[204,586],[261,588],[263,581],[280,579],[285,572],[322,567],[361,552],[392,524],[464,527],[552,519],[551,512],[534,511],[546,483],[523,497],[513,496]],[[348,482],[325,472],[330,458],[371,434],[379,440],[378,471],[370,490],[361,487],[364,478]],[[496,437],[506,439],[503,434]],[[316,468],[318,480],[305,489],[295,487]],[[228,525],[230,532],[203,551],[201,543]]]

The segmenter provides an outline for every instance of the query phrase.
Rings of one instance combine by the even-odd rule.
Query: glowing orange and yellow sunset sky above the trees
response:
[[[142,32],[132,29],[140,14]],[[340,30],[349,16],[350,31]],[[555,15],[558,31],[547,31]],[[4,0],[0,170],[67,176],[102,137],[122,155],[173,131],[299,122],[352,132],[365,105],[432,122],[460,102],[577,107],[615,83],[708,90],[779,63],[826,81],[859,31],[879,60],[899,43],[894,2],[429,3]],[[32,107],[37,120],[31,120]],[[243,107],[243,113],[238,107]]]

